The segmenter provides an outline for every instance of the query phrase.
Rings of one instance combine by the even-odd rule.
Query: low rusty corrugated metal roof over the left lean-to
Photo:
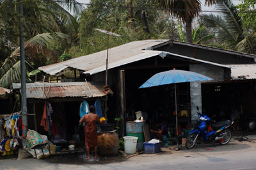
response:
[[[13,83],[13,89],[19,89],[20,83]],[[27,83],[27,98],[55,97],[103,97],[104,82],[35,82]]]

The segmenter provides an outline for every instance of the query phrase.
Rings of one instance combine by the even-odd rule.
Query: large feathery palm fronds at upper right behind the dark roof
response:
[[[232,1],[220,1],[216,10],[221,11],[221,14],[202,15],[200,18],[205,26],[216,29],[217,40],[228,49],[255,54],[255,33],[246,34],[242,19]]]

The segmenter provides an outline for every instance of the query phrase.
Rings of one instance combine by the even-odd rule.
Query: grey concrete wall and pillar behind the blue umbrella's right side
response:
[[[189,65],[191,72],[200,73],[207,77],[214,79],[214,82],[224,81],[224,69],[220,66],[207,65],[207,64],[191,64]],[[190,100],[191,100],[191,120],[198,120],[196,114],[196,106],[202,112],[202,90],[201,83],[209,81],[196,81],[190,82]]]

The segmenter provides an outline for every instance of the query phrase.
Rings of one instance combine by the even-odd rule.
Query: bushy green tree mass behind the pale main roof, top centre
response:
[[[95,31],[95,28],[122,35],[109,36],[109,48],[149,38],[170,38],[170,29],[166,27],[170,26],[169,16],[158,12],[155,4],[148,0],[92,0],[91,3],[95,5],[88,6],[81,13],[78,37],[80,44],[68,50],[72,56],[84,56],[108,48],[108,35]],[[132,8],[131,12],[131,8],[124,8],[129,5],[138,8]],[[141,17],[141,13],[145,13],[144,17]]]

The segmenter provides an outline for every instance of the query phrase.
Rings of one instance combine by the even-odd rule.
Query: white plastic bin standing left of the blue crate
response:
[[[124,136],[124,152],[127,154],[136,153],[138,137],[135,136]]]

